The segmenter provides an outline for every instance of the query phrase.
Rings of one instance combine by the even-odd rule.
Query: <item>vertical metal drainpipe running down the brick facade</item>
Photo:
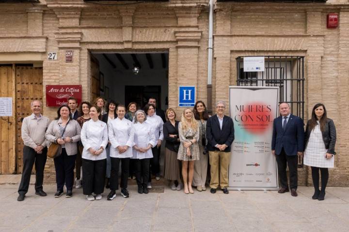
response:
[[[213,0],[208,3],[207,111],[212,113]]]

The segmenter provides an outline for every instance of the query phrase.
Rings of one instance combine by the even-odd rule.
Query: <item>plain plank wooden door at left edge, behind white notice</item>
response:
[[[14,66],[0,67],[0,97],[12,98],[14,107]],[[16,172],[15,110],[12,116],[0,116],[0,174]]]

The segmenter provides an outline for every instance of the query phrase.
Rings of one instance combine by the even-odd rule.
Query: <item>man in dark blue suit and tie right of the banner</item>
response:
[[[290,113],[290,106],[286,102],[279,105],[281,116],[274,119],[271,152],[276,157],[281,188],[279,193],[289,191],[286,165],[288,164],[291,195],[297,197],[297,164],[298,157],[303,152],[304,127],[300,117]]]

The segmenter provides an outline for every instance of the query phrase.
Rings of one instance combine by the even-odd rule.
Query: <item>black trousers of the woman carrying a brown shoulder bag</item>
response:
[[[72,190],[76,155],[68,156],[65,148],[62,148],[62,154],[53,160],[56,169],[57,191],[63,191],[64,184],[67,190]]]

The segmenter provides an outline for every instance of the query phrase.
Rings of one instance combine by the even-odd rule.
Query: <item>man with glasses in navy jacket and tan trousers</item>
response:
[[[208,118],[206,138],[209,162],[211,165],[211,193],[216,193],[218,185],[228,194],[228,168],[230,149],[234,141],[233,119],[224,115],[225,103],[217,102],[216,115]]]

